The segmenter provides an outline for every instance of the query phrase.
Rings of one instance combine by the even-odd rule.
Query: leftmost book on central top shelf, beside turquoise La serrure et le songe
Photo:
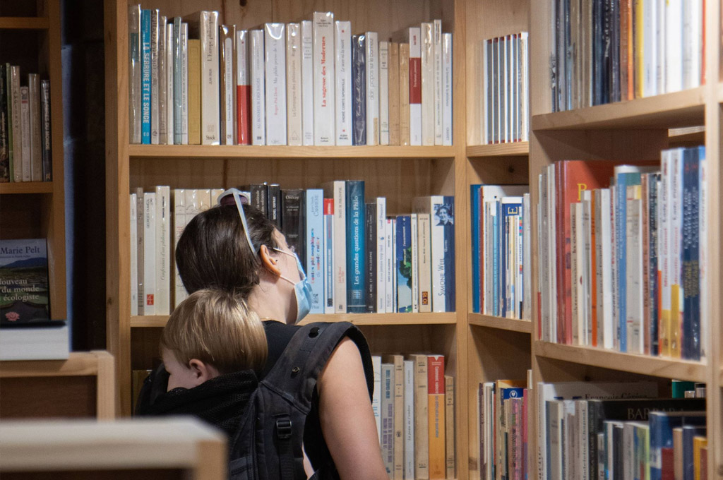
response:
[[[141,142],[141,9],[128,7],[128,123],[129,140]]]

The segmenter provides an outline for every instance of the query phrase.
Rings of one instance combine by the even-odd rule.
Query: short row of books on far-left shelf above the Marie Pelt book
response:
[[[0,182],[51,181],[50,80],[0,63]]]

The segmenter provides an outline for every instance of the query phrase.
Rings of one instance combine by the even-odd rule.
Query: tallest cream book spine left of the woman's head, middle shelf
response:
[[[171,313],[171,189],[155,187],[155,314]]]

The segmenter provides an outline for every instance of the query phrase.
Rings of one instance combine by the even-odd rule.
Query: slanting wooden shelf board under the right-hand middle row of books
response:
[[[669,359],[665,357],[635,355],[582,346],[559,345],[536,341],[534,353],[548,359],[570,361],[576,364],[602,367],[623,372],[675,378],[693,382],[706,382],[706,365],[699,361]]]

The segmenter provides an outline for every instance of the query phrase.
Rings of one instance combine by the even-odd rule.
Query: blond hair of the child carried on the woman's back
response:
[[[268,346],[255,312],[232,293],[195,291],[181,302],[161,334],[161,349],[174,353],[181,365],[199,359],[221,374],[261,370]]]

